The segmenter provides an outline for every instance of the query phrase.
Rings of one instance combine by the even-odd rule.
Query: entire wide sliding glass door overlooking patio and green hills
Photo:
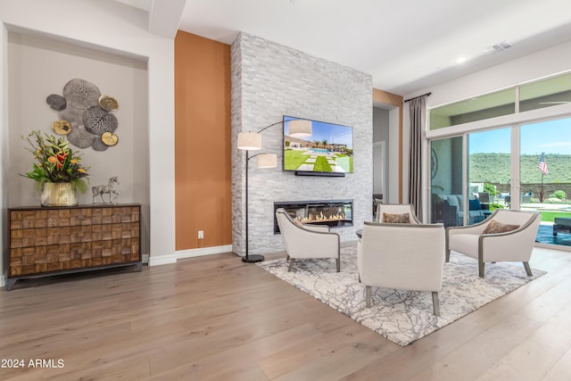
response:
[[[537,241],[571,246],[570,130],[567,118],[430,140],[430,221],[450,227],[499,208],[540,211]]]

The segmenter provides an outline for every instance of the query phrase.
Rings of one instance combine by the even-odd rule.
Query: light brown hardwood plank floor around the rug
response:
[[[548,274],[404,348],[232,253],[18,281],[0,379],[571,379],[571,253],[531,265]]]

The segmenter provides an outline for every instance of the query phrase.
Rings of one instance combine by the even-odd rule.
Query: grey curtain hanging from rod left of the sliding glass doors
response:
[[[422,219],[422,130],[426,119],[426,96],[410,100],[410,161],[409,161],[409,203],[417,217]]]

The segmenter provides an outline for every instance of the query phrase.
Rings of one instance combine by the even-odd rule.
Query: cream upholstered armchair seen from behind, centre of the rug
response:
[[[357,244],[360,283],[371,305],[371,287],[432,293],[434,315],[440,316],[438,292],[443,286],[442,224],[365,222]]]

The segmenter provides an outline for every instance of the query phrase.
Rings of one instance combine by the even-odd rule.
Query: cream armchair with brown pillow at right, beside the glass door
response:
[[[447,228],[446,261],[450,261],[451,251],[475,258],[480,277],[484,277],[485,262],[521,261],[531,276],[528,262],[541,219],[535,211],[496,209],[478,224]]]

